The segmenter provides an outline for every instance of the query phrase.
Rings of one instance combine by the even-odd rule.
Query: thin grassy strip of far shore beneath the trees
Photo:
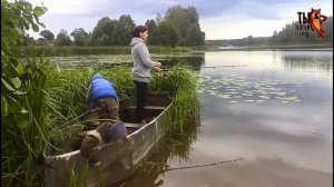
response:
[[[194,46],[194,47],[164,47],[148,46],[150,53],[191,53],[205,51],[262,51],[262,50],[333,50],[333,43],[322,45],[261,45],[239,47],[218,46]],[[78,46],[30,46],[22,47],[24,57],[70,57],[70,56],[97,56],[97,55],[130,55],[130,46],[107,46],[107,47],[78,47]]]

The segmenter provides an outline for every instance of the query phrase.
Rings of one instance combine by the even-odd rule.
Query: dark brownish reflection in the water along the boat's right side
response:
[[[138,171],[130,178],[111,187],[158,187],[164,184],[164,179],[158,179],[166,173],[168,160],[178,159],[180,161],[189,160],[191,145],[197,140],[199,132],[199,117],[189,120],[184,126],[183,134],[170,132],[166,135],[161,145],[147,160],[141,163]]]

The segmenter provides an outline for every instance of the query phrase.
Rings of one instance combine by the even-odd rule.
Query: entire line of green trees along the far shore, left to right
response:
[[[147,19],[145,26],[149,30],[148,45],[164,47],[196,47],[196,46],[279,46],[279,45],[331,45],[333,40],[333,17],[328,17],[323,23],[325,38],[320,38],[315,31],[308,31],[308,36],[298,36],[296,31],[297,21],[286,23],[281,31],[274,31],[271,37],[248,36],[242,39],[205,40],[205,32],[200,30],[199,14],[195,7],[184,8],[174,6],[166,10],[165,14],[157,13],[155,19]],[[50,30],[42,30],[40,38],[35,40],[24,35],[19,46],[41,46],[43,50],[52,50],[52,47],[124,47],[131,40],[131,30],[136,27],[129,14],[121,14],[118,19],[104,17],[98,20],[92,31],[87,32],[84,28],[77,28],[70,32],[61,29],[57,35]],[[38,48],[39,50],[40,48]],[[203,48],[205,49],[205,48]],[[87,53],[78,48],[61,50],[61,53]],[[81,50],[81,49],[80,49]],[[107,49],[107,53],[117,53],[116,49]],[[156,48],[153,48],[156,51]],[[161,49],[157,49],[160,51]],[[68,51],[68,52],[66,52]],[[97,50],[100,53],[104,50]],[[128,49],[120,50],[121,53]],[[175,50],[183,51],[183,50]],[[53,52],[57,53],[58,52]],[[96,53],[96,52],[94,52]]]

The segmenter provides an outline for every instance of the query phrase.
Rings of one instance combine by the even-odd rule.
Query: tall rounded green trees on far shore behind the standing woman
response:
[[[205,32],[200,31],[198,13],[195,7],[183,8],[174,6],[167,9],[165,16],[157,14],[156,19],[149,19],[148,27],[150,45],[157,46],[203,46]],[[56,36],[50,30],[40,32],[39,39],[26,36],[21,46],[129,46],[131,31],[136,27],[129,14],[122,14],[119,19],[101,18],[91,32],[78,28],[70,33],[61,29]],[[71,37],[72,39],[71,39]]]

